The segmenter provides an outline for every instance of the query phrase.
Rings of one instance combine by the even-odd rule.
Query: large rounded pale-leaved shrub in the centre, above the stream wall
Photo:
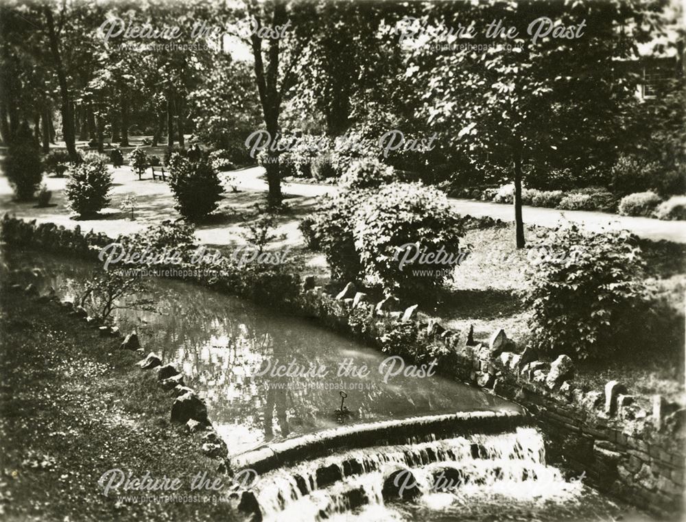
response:
[[[390,294],[443,283],[457,263],[461,235],[445,194],[421,183],[394,182],[368,193],[353,220],[364,272]]]

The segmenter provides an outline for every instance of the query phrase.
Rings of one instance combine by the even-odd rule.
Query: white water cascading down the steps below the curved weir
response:
[[[393,470],[412,473],[418,488],[414,501],[436,509],[478,495],[545,501],[580,492],[580,484],[565,482],[558,469],[545,464],[541,434],[523,427],[497,435],[341,451],[267,473],[252,493],[265,521],[312,522],[339,515],[349,521],[351,511],[362,506],[365,519],[383,519],[388,518],[381,517],[384,484]]]

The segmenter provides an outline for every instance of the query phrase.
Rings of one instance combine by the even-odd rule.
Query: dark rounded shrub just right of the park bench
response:
[[[176,210],[191,221],[214,211],[224,192],[217,171],[208,161],[191,162],[178,155],[170,158],[169,186],[174,193]]]

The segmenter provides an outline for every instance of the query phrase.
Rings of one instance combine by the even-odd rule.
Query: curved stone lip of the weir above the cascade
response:
[[[329,455],[333,451],[381,444],[416,444],[471,434],[497,434],[530,425],[519,412],[459,412],[399,420],[383,420],[318,431],[297,438],[265,444],[230,456],[227,467],[237,472],[252,469],[266,473],[301,460]]]

